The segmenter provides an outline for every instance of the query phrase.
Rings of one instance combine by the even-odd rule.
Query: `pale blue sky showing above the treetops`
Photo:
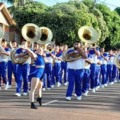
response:
[[[1,0],[0,0],[1,1]],[[34,0],[38,2],[42,2],[48,6],[52,6],[56,3],[67,2],[69,0]],[[96,0],[99,3],[105,3],[111,10],[114,10],[116,7],[120,7],[120,0]]]

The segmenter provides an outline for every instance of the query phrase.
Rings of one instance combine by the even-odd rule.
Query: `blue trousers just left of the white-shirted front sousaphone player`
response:
[[[61,62],[61,81],[64,72],[64,83],[67,82],[67,62]]]

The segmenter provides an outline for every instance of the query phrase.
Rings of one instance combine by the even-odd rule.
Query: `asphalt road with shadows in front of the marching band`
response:
[[[28,96],[16,97],[15,86],[0,91],[0,120],[120,120],[120,83],[89,92],[81,101],[65,100],[66,86],[43,91],[43,105],[30,109]]]

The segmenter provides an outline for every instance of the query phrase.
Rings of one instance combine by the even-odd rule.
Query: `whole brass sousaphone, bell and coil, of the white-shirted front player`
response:
[[[78,36],[82,42],[85,44],[92,44],[96,43],[98,41],[98,32],[93,28],[89,26],[82,26],[78,30]],[[74,56],[69,55],[69,51],[72,51],[74,48],[70,48],[67,51],[63,53],[62,59],[67,62],[71,62],[74,60],[77,60],[81,57],[81,54],[76,52]]]

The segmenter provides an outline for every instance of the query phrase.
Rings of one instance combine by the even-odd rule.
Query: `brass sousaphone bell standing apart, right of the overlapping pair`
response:
[[[98,41],[98,32],[89,26],[83,26],[78,30],[78,36],[85,43],[96,43]]]

